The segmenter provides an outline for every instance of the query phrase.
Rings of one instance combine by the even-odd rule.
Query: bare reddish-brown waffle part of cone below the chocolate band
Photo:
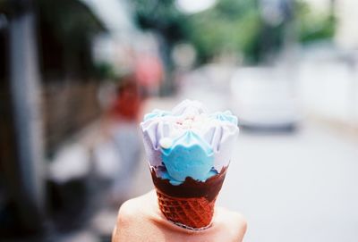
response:
[[[205,229],[210,226],[217,197],[209,202],[205,196],[168,196],[157,188],[158,205],[167,220],[186,229]]]

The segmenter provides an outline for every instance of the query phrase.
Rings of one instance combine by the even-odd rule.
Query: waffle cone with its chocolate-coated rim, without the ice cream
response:
[[[187,178],[179,186],[172,185],[168,179],[161,179],[155,170],[153,168],[151,174],[158,206],[166,219],[186,229],[208,228],[227,169],[204,182]]]

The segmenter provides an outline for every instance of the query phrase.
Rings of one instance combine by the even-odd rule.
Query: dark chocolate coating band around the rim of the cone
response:
[[[154,186],[168,196],[174,197],[201,197],[204,196],[209,202],[217,197],[218,192],[223,186],[226,176],[227,166],[224,167],[217,175],[206,181],[195,180],[187,177],[182,184],[172,185],[169,179],[161,179],[157,176],[156,170],[163,170],[165,167],[151,167],[150,173]]]

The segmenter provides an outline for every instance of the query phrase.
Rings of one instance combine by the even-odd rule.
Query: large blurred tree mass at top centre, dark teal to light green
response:
[[[256,1],[221,0],[208,11],[186,15],[175,0],[133,0],[135,20],[166,38],[169,49],[176,42],[191,43],[200,62],[222,52],[250,55],[258,38],[260,16]]]

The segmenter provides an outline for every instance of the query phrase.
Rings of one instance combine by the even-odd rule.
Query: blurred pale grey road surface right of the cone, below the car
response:
[[[356,241],[358,142],[309,124],[242,133],[218,204],[243,213],[245,241]]]

